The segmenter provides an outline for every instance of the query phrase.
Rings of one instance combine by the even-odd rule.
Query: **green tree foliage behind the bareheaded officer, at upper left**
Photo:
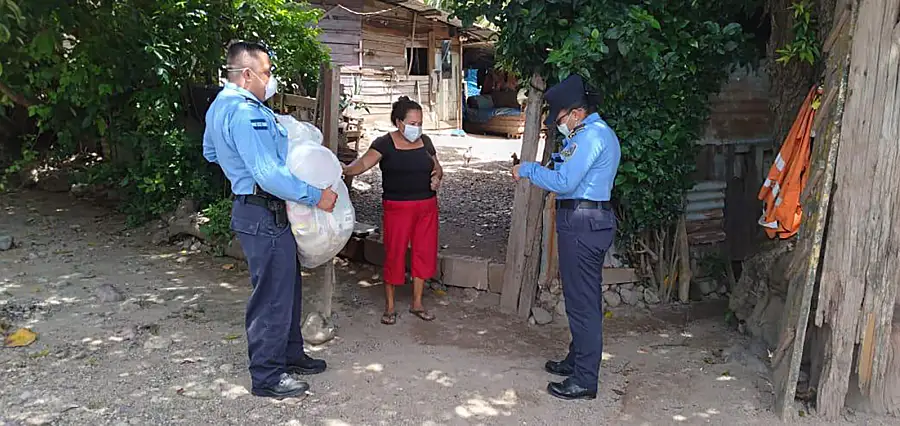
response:
[[[290,0],[0,0],[0,114],[28,109],[51,140],[42,159],[111,157],[88,176],[120,185],[135,221],[186,196],[209,202],[225,189],[202,158],[190,88],[218,84],[237,39],[277,53],[282,91],[314,88],[320,13]]]

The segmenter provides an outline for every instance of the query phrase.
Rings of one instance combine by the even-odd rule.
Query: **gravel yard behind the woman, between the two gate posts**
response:
[[[367,135],[360,152],[381,134]],[[441,250],[505,260],[515,190],[511,156],[519,153],[521,140],[441,135],[432,140],[444,167],[438,194]],[[466,165],[469,147],[472,158]],[[354,179],[351,197],[358,221],[381,223],[381,171],[377,167]]]

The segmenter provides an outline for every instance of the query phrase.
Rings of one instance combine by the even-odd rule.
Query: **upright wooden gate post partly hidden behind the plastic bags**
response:
[[[341,69],[323,66],[319,80],[319,105],[323,144],[337,155],[338,120],[341,102]],[[322,344],[334,338],[331,324],[332,298],[334,297],[334,261],[321,268],[322,281],[308,280],[303,283],[303,338],[312,344]]]

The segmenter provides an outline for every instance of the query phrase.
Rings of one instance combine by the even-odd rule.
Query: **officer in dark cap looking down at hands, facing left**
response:
[[[594,399],[603,356],[603,261],[616,234],[609,200],[621,157],[619,138],[594,111],[596,102],[578,75],[551,87],[545,98],[546,124],[565,137],[562,150],[552,169],[523,162],[513,168],[513,177],[556,193],[559,270],[572,343],[565,359],[544,366],[566,377],[547,391],[562,399]]]

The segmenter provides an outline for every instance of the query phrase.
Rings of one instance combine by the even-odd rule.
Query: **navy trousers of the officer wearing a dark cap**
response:
[[[563,361],[579,386],[597,390],[603,357],[603,260],[616,235],[616,216],[605,209],[558,209],[559,272],[572,343]]]

